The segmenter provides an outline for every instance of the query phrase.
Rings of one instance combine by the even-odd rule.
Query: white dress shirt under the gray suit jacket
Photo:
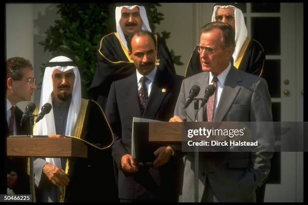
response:
[[[213,109],[213,116],[215,115],[216,113],[216,109],[217,109],[217,106],[218,106],[218,103],[219,103],[219,99],[220,99],[220,96],[221,96],[221,92],[222,92],[222,89],[223,89],[223,86],[224,86],[224,82],[225,82],[225,78],[229,72],[231,68],[231,63],[229,62],[229,65],[228,67],[222,71],[219,75],[217,75],[217,90],[216,90],[216,97],[215,97],[215,102],[214,102],[214,109]],[[210,72],[210,75],[209,75],[209,84],[213,84],[212,82],[212,79],[213,79],[214,75]]]

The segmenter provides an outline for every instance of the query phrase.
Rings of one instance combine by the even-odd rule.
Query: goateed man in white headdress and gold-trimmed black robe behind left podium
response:
[[[117,191],[115,181],[108,176],[113,174],[111,150],[105,149],[113,142],[112,131],[100,106],[81,97],[78,67],[65,56],[46,64],[39,110],[47,102],[52,110],[35,125],[35,135],[74,136],[97,148],[88,146],[86,159],[35,159],[37,201],[112,201],[110,197],[116,198]],[[110,186],[107,191],[96,189],[106,182]]]

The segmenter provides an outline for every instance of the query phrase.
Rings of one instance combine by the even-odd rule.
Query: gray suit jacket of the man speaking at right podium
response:
[[[175,115],[184,121],[194,117],[194,105],[183,109],[189,90],[200,86],[197,97],[203,97],[209,72],[184,79]],[[201,104],[201,102],[200,102]],[[206,105],[198,113],[198,121],[206,121]],[[194,120],[194,119],[192,119]],[[272,121],[271,98],[263,78],[231,67],[227,74],[213,121],[268,122]],[[261,186],[270,171],[271,152],[200,152],[199,201],[204,191],[206,176],[219,201],[247,201]],[[194,201],[193,153],[187,153],[182,190],[183,201]]]

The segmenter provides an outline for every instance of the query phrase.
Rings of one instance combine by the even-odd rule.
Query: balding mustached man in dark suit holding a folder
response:
[[[152,165],[138,166],[131,155],[131,130],[133,117],[168,121],[173,116],[183,77],[157,68],[152,33],[137,32],[130,45],[129,56],[137,72],[112,83],[106,107],[115,134],[112,156],[119,167],[119,198],[122,202],[177,201],[173,149],[157,145],[151,150]]]

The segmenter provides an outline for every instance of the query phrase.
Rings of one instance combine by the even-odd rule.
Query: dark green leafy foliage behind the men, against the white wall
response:
[[[155,32],[156,24],[164,20],[164,15],[157,11],[158,3],[148,3],[149,24]],[[65,55],[78,65],[83,88],[91,85],[97,63],[97,43],[105,35],[114,32],[114,4],[59,4],[57,6],[61,20],[55,21],[46,31],[45,41],[40,42],[44,51],[52,55]],[[163,40],[170,37],[170,32],[162,32]],[[175,64],[181,65],[180,57],[171,50]],[[183,63],[182,63],[183,64]],[[84,97],[87,92],[83,90]]]

